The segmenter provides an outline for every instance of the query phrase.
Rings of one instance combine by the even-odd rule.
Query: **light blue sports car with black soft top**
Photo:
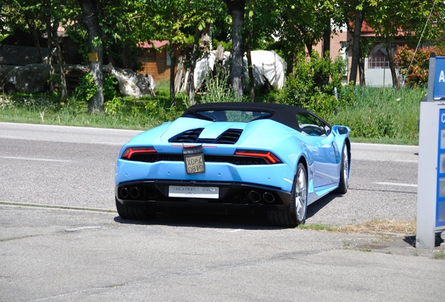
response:
[[[116,208],[130,220],[171,210],[266,213],[276,226],[295,227],[309,204],[347,192],[350,131],[282,104],[190,106],[122,147]]]

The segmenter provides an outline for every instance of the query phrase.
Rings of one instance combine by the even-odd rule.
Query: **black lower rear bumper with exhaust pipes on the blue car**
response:
[[[169,187],[218,188],[217,198],[196,196],[174,197]],[[283,210],[291,201],[290,192],[276,187],[239,183],[204,181],[142,180],[115,186],[116,200],[125,205],[144,206],[150,210],[164,211],[173,208],[213,208],[230,212]]]

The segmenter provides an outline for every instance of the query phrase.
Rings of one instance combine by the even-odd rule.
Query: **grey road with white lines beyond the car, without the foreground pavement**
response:
[[[114,209],[114,165],[139,131],[0,123],[0,201]],[[416,217],[416,146],[352,145],[350,189],[308,208],[308,223]]]

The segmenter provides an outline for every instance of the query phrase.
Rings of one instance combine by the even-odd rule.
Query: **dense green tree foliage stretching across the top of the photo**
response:
[[[44,3],[43,3],[44,2]],[[311,53],[313,45],[322,38],[329,39],[334,32],[348,30],[354,34],[350,41],[353,53],[351,78],[355,75],[359,59],[365,50],[360,36],[363,22],[371,24],[378,36],[376,41],[390,45],[402,30],[407,42],[423,41],[439,43],[443,41],[445,6],[442,3],[432,6],[429,0],[401,0],[388,4],[383,0],[318,1],[318,0],[10,0],[3,3],[0,10],[1,38],[16,30],[29,31],[34,38],[48,33],[48,46],[54,53],[52,62],[61,63],[57,46],[57,26],[65,27],[71,38],[80,43],[80,53],[85,64],[88,52],[97,52],[97,66],[90,63],[93,80],[97,85],[97,99],[93,104],[103,110],[102,94],[104,77],[101,76],[102,61],[114,66],[137,69],[137,44],[140,41],[167,40],[172,65],[176,54],[186,55],[185,66],[194,66],[201,52],[223,44],[232,50],[232,57],[255,49],[275,50],[288,62],[292,73],[294,63],[305,49]],[[435,1],[436,3],[436,1]],[[428,22],[423,30],[425,20]],[[234,29],[234,24],[239,29]],[[344,29],[344,24],[348,24]],[[431,26],[431,24],[435,24]],[[232,32],[231,32],[232,29]],[[205,40],[210,36],[210,42]],[[236,38],[236,43],[233,39]],[[51,41],[51,42],[50,42]],[[327,40],[323,43],[325,57]],[[38,45],[36,45],[38,48]],[[229,49],[228,49],[229,48]],[[105,64],[106,64],[105,63]],[[232,64],[229,83],[240,83],[241,64]],[[236,73],[236,74],[235,74]],[[61,76],[63,73],[60,73]],[[189,73],[188,81],[192,80]],[[236,75],[234,80],[232,77]],[[52,77],[54,78],[54,77]],[[175,99],[174,69],[171,69],[170,96]],[[349,79],[351,80],[351,79]],[[252,82],[252,81],[250,81]],[[173,85],[173,87],[172,87]],[[64,79],[59,80],[59,88]],[[189,85],[190,86],[190,85]],[[239,88],[236,89],[239,92]],[[250,92],[251,93],[251,92]],[[326,92],[320,92],[325,94]],[[192,95],[190,91],[190,100]],[[239,94],[239,93],[238,93]],[[240,96],[240,95],[239,95]],[[66,97],[63,94],[62,99]],[[242,97],[242,96],[241,96]],[[92,110],[94,111],[94,110]]]

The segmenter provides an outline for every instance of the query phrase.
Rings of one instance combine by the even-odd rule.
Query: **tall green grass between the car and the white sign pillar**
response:
[[[353,141],[418,145],[420,103],[425,89],[356,87],[354,101],[325,116],[351,127]],[[357,140],[355,140],[357,138]]]

